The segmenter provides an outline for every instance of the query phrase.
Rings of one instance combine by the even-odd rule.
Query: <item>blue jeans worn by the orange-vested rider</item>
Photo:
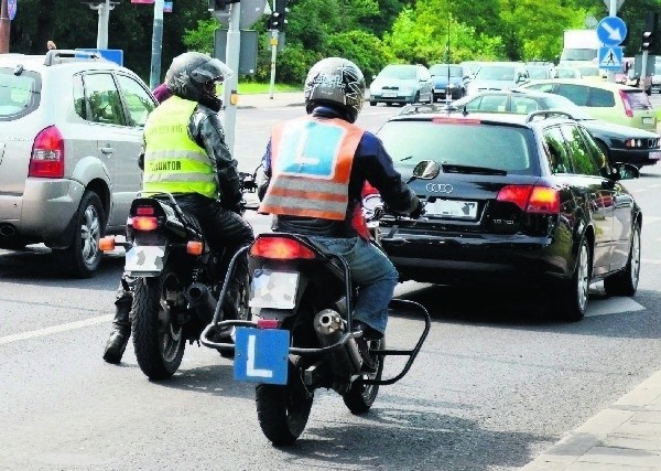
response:
[[[360,238],[311,236],[332,253],[342,256],[359,287],[354,307],[354,319],[384,333],[388,323],[388,304],[392,299],[399,274],[390,259],[378,247]]]

